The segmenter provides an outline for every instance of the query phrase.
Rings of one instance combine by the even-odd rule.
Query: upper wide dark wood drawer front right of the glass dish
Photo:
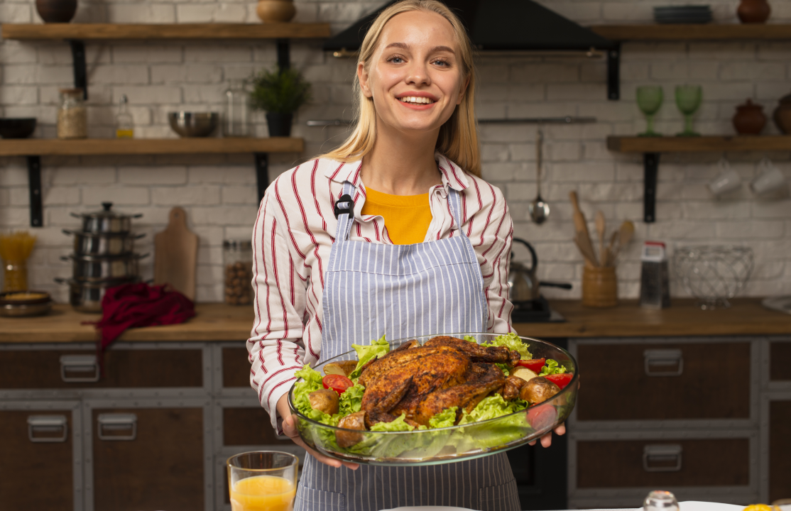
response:
[[[750,343],[580,343],[577,355],[578,421],[750,418]]]

